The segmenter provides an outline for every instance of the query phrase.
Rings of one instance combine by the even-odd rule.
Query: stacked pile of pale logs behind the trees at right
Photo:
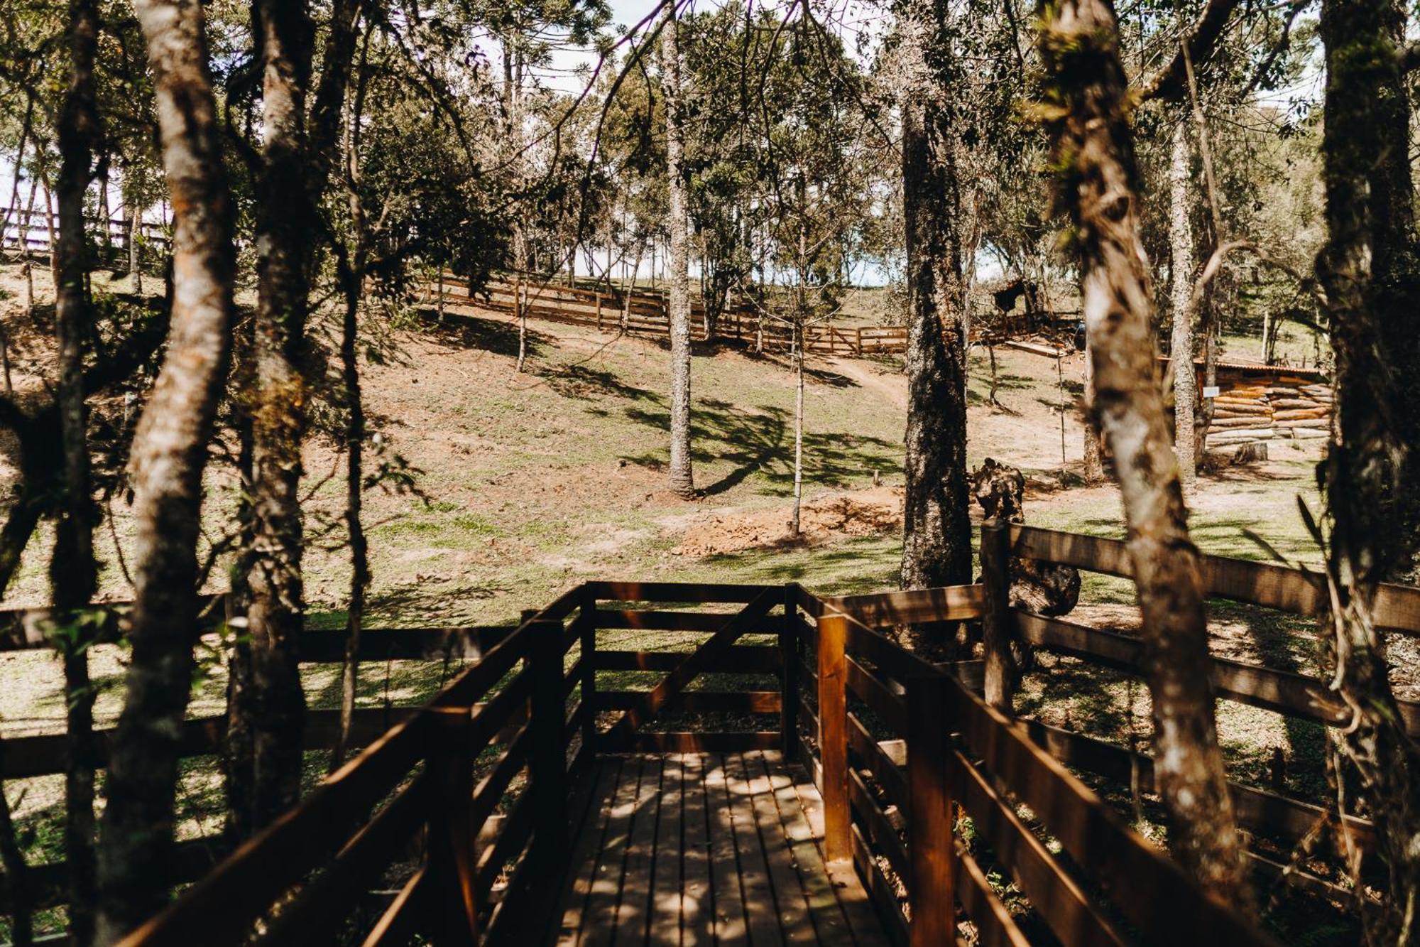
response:
[[[1224,388],[1213,400],[1208,446],[1274,438],[1325,438],[1331,431],[1331,385],[1295,375]]]

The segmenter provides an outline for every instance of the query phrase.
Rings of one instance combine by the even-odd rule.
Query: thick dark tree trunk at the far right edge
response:
[[[1335,434],[1323,464],[1331,515],[1328,555],[1333,690],[1352,711],[1329,731],[1359,776],[1390,874],[1387,897],[1367,910],[1376,944],[1420,943],[1420,747],[1406,731],[1390,687],[1386,644],[1375,621],[1376,583],[1414,555],[1406,491],[1417,478],[1413,405],[1404,405],[1414,330],[1392,338],[1414,300],[1413,200],[1397,63],[1396,10],[1387,0],[1326,0],[1322,166],[1328,240],[1316,259],[1336,353]],[[1410,257],[1410,259],[1406,259]],[[1413,319],[1413,310],[1410,314]],[[1345,775],[1338,774],[1338,778]],[[1365,910],[1365,904],[1363,904]]]

